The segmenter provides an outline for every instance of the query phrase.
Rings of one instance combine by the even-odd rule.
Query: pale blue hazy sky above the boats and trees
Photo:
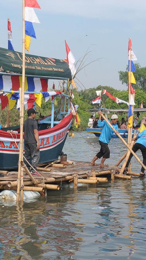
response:
[[[118,71],[128,64],[128,40],[137,62],[145,67],[146,1],[145,0],[38,0],[35,9],[40,23],[33,23],[30,54],[56,59],[66,58],[64,40],[76,62],[89,51],[86,64],[77,74],[82,83],[78,90],[110,86],[127,89]],[[22,52],[22,0],[0,0],[0,47],[7,48],[7,18],[12,27],[14,50]],[[87,36],[86,36],[87,35]],[[26,51],[27,53],[27,51]],[[85,88],[84,88],[84,87]]]

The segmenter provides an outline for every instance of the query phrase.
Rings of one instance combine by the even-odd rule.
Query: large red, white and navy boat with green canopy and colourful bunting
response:
[[[26,104],[28,104],[27,101],[30,98],[35,97],[35,94],[43,94],[45,98],[50,98],[52,102],[51,115],[38,119],[37,123],[40,142],[39,163],[53,162],[58,159],[63,149],[73,120],[73,113],[71,112],[72,104],[68,84],[65,90],[66,94],[64,94],[64,90],[62,92],[55,90],[48,91],[47,82],[49,79],[71,79],[71,70],[67,62],[59,59],[29,54],[26,54],[25,59],[25,84],[28,86],[24,93],[28,97],[26,98]],[[0,101],[2,106],[7,98],[7,93],[12,94],[13,98],[17,96],[16,102],[17,104],[19,103],[19,89],[21,87],[20,82],[22,82],[21,75],[22,54],[0,48]],[[29,85],[30,82],[31,84]],[[42,85],[42,82],[45,84]],[[40,88],[38,88],[37,83],[40,84]],[[56,97],[60,97],[61,106],[59,111],[55,111],[54,109],[54,100]],[[20,126],[4,127],[0,130],[0,169],[18,168],[19,146]]]

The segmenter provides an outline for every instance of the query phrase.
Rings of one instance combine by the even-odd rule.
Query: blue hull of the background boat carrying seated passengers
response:
[[[100,128],[86,128],[87,133],[95,134],[96,137],[99,137],[102,129]],[[128,138],[128,130],[119,129],[119,134],[123,138]],[[134,136],[135,129],[132,130],[132,137]],[[113,138],[119,138],[115,133],[112,135]]]

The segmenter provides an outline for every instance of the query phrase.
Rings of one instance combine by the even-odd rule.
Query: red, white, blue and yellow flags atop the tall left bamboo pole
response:
[[[36,39],[33,23],[40,23],[33,8],[40,9],[36,0],[25,0],[25,48],[29,52],[31,37]]]

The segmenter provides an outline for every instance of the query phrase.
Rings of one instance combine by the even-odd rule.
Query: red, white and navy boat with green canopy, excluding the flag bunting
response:
[[[7,49],[0,48],[0,77],[19,77],[22,74],[22,54],[19,52],[9,51]],[[30,60],[35,63],[39,63],[37,67],[33,64],[30,66]],[[46,62],[45,62],[46,61]],[[28,64],[27,64],[28,63]],[[14,66],[15,65],[15,66]],[[29,65],[29,66],[28,66]],[[37,69],[38,68],[38,69]],[[67,80],[71,79],[71,71],[67,62],[63,60],[38,57],[35,55],[26,55],[26,76],[27,77],[39,77],[46,79],[59,79]],[[9,75],[9,76],[8,76]],[[31,76],[33,75],[33,76]],[[2,87],[0,87],[2,89]],[[9,90],[8,90],[9,89]],[[2,93],[11,93],[11,87],[2,89]],[[66,89],[67,90],[67,89]],[[19,93],[19,90],[15,93]],[[25,94],[32,94],[35,91],[25,91]],[[36,92],[38,93],[38,92]],[[39,92],[40,93],[40,92]],[[48,92],[49,93],[49,92]],[[67,93],[67,91],[66,91]],[[69,94],[69,92],[68,92]],[[50,116],[46,116],[42,119],[38,119],[38,132],[40,141],[40,161],[39,163],[53,162],[58,159],[60,152],[63,149],[68,131],[70,130],[72,123],[72,112],[70,109],[70,95],[68,94],[56,94],[52,99],[52,113]],[[61,98],[61,109],[57,116],[54,112],[54,98]],[[68,109],[66,103],[68,101]],[[63,107],[63,109],[62,109]],[[55,116],[54,116],[55,114]],[[54,117],[56,118],[54,120]],[[54,126],[55,125],[55,126]],[[50,127],[49,129],[47,127]],[[18,133],[7,132],[8,130],[15,130]],[[18,168],[19,160],[19,144],[20,144],[20,126],[2,128],[0,130],[0,169],[16,169]]]

